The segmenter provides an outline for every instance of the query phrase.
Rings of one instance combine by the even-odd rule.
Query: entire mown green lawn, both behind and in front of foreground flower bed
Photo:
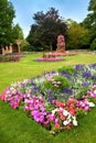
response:
[[[19,81],[41,75],[46,70],[56,70],[62,66],[96,63],[96,55],[78,53],[65,56],[63,62],[36,63],[33,59],[42,54],[26,55],[18,63],[0,63],[0,92],[12,81]],[[13,110],[0,101],[0,143],[95,143],[96,108],[84,118],[78,127],[53,136],[44,128],[29,118],[22,110]]]

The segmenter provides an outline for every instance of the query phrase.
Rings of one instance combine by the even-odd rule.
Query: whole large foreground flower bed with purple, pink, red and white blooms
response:
[[[61,67],[14,82],[0,99],[24,110],[52,134],[71,130],[96,105],[96,64]]]

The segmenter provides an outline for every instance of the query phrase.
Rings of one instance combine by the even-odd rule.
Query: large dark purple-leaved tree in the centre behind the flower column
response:
[[[58,15],[58,11],[51,8],[46,13],[38,12],[33,16],[35,24],[31,25],[28,41],[32,45],[53,50],[58,34],[66,36],[67,25]]]

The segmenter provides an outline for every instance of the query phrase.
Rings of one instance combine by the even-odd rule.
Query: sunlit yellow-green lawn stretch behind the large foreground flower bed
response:
[[[34,62],[34,59],[40,56],[42,56],[42,53],[26,55],[21,58],[20,62],[0,63],[0,92],[12,81],[31,78],[33,76],[41,75],[46,70],[56,70],[62,66],[90,64],[96,62],[96,55],[83,53],[75,56],[65,56],[65,61],[63,62]]]

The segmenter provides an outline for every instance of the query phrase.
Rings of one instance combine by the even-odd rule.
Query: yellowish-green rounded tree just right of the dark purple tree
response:
[[[71,50],[83,48],[88,44],[88,30],[84,29],[77,22],[67,20],[68,32],[66,46]]]

